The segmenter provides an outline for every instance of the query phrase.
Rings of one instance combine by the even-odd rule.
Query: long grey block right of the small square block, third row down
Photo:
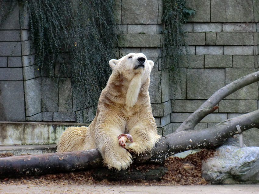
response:
[[[217,45],[254,45],[254,34],[243,32],[218,32]]]

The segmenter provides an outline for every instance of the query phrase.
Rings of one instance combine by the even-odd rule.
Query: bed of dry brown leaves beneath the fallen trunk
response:
[[[190,154],[186,158],[169,157],[165,160],[164,165],[168,172],[161,177],[160,181],[96,181],[91,176],[91,171],[70,172],[38,176],[23,176],[18,178],[0,179],[0,184],[34,184],[34,185],[197,185],[208,184],[201,177],[201,161],[211,158],[215,154],[214,150],[202,150],[195,154]],[[11,153],[0,154],[1,157],[12,156]],[[158,165],[132,165],[141,171],[155,169]]]

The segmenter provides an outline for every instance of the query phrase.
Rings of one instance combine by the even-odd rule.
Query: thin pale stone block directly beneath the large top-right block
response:
[[[256,32],[255,23],[223,23],[222,32]]]

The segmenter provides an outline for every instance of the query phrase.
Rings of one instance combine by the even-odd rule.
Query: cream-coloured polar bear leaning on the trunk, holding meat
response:
[[[97,113],[88,127],[69,127],[57,151],[97,148],[104,164],[126,169],[134,154],[151,152],[160,136],[152,115],[148,87],[154,66],[142,53],[109,61],[112,74],[101,92]]]

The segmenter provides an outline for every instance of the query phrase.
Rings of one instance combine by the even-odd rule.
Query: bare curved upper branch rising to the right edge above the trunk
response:
[[[192,113],[176,131],[191,130],[208,114],[214,112],[217,108],[217,104],[226,96],[236,92],[240,88],[250,85],[256,81],[259,81],[259,71],[246,75],[242,78],[233,81],[232,83],[220,88],[215,92],[206,102],[204,102],[200,108]]]

